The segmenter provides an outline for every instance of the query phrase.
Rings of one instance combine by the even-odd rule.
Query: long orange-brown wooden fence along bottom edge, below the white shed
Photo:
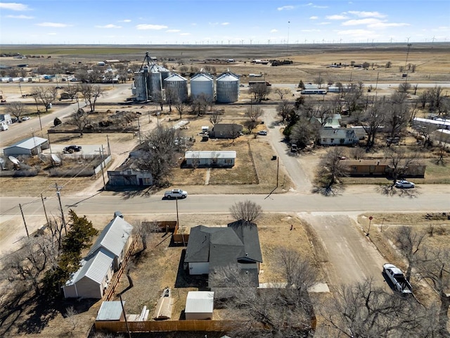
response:
[[[211,331],[232,330],[243,323],[234,320],[165,320],[128,322],[129,332],[176,332],[176,331]],[[96,321],[96,330],[108,332],[127,332],[127,325],[120,321]]]

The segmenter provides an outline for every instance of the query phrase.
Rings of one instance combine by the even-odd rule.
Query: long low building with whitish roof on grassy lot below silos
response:
[[[186,167],[207,168],[220,167],[231,168],[236,161],[236,151],[186,151],[184,153]]]

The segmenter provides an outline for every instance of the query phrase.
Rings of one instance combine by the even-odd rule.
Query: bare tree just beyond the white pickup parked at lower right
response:
[[[426,232],[424,231],[417,232],[412,227],[406,226],[399,227],[394,234],[394,242],[408,263],[405,273],[406,280],[411,278],[411,270],[416,265],[416,253],[418,253],[420,245],[423,243],[425,234]]]

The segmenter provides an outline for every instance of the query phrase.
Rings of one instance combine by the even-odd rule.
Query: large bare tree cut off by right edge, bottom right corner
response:
[[[450,337],[447,329],[450,307],[450,249],[425,248],[418,259],[418,273],[428,280],[439,295],[439,333]]]

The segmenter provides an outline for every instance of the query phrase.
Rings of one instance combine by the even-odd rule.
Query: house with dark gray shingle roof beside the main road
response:
[[[184,266],[190,275],[208,275],[208,287],[223,287],[214,276],[223,268],[236,268],[259,284],[262,263],[258,228],[255,223],[234,222],[227,227],[198,225],[189,234]]]

